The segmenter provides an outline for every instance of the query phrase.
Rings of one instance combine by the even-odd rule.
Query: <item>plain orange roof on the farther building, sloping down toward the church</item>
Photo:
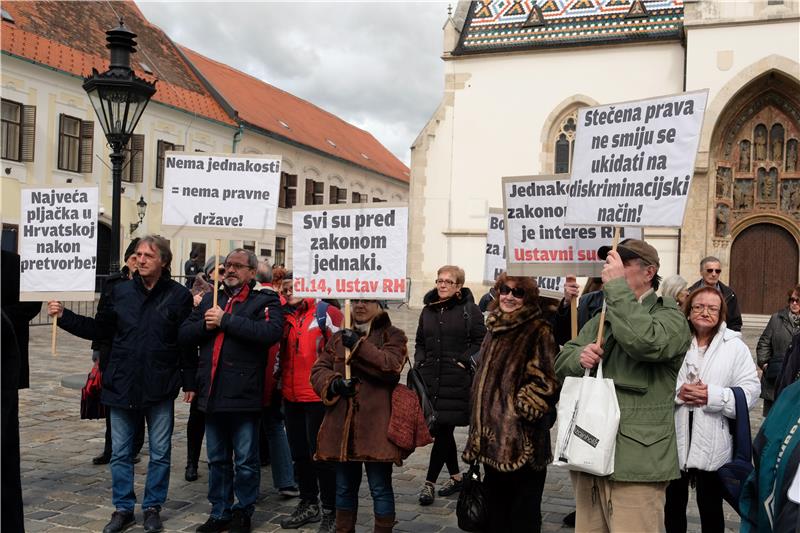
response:
[[[314,104],[181,47],[247,125],[384,176],[409,182],[408,167],[366,132]]]

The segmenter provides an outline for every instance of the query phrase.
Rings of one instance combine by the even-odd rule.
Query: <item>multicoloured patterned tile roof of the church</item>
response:
[[[478,1],[453,55],[676,40],[682,28],[683,0]]]

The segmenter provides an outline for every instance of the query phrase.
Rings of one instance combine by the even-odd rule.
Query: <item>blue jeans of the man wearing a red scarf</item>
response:
[[[208,501],[214,518],[227,520],[237,509],[251,516],[255,510],[261,483],[260,422],[259,412],[206,413]],[[238,500],[235,504],[234,493]]]

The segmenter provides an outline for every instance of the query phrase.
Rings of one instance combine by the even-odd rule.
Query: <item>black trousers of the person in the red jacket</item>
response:
[[[313,460],[317,451],[317,433],[325,418],[325,406],[322,402],[284,401],[283,409],[300,499],[316,503],[319,495],[323,508],[335,509],[336,465]]]

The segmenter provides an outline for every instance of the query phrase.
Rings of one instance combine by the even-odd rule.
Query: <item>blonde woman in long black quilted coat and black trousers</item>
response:
[[[445,265],[436,273],[436,287],[423,298],[415,342],[414,364],[428,389],[436,412],[428,473],[419,494],[421,505],[434,500],[436,480],[446,464],[450,478],[439,490],[449,496],[461,490],[456,426],[469,423],[469,391],[474,357],[486,334],[483,314],[464,287],[464,270]]]

